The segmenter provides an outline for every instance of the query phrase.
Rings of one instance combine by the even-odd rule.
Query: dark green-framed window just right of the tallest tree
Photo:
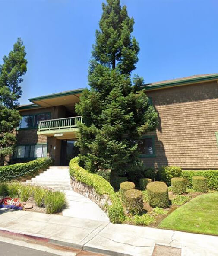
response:
[[[141,157],[155,157],[154,136],[143,136],[138,142]]]

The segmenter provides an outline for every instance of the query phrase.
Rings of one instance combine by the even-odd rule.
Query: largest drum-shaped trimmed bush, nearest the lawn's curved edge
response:
[[[148,202],[155,208],[168,208],[170,206],[168,187],[164,182],[155,181],[147,185]]]

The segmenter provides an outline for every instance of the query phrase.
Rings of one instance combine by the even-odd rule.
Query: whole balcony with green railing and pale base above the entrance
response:
[[[58,139],[73,139],[76,138],[79,123],[82,123],[82,116],[40,121],[37,134]]]

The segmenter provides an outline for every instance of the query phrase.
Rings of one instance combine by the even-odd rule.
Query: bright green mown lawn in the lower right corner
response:
[[[158,227],[218,235],[218,193],[197,196],[173,211]]]

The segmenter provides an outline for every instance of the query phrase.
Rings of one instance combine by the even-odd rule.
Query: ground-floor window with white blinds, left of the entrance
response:
[[[47,144],[17,146],[13,158],[47,157]]]

